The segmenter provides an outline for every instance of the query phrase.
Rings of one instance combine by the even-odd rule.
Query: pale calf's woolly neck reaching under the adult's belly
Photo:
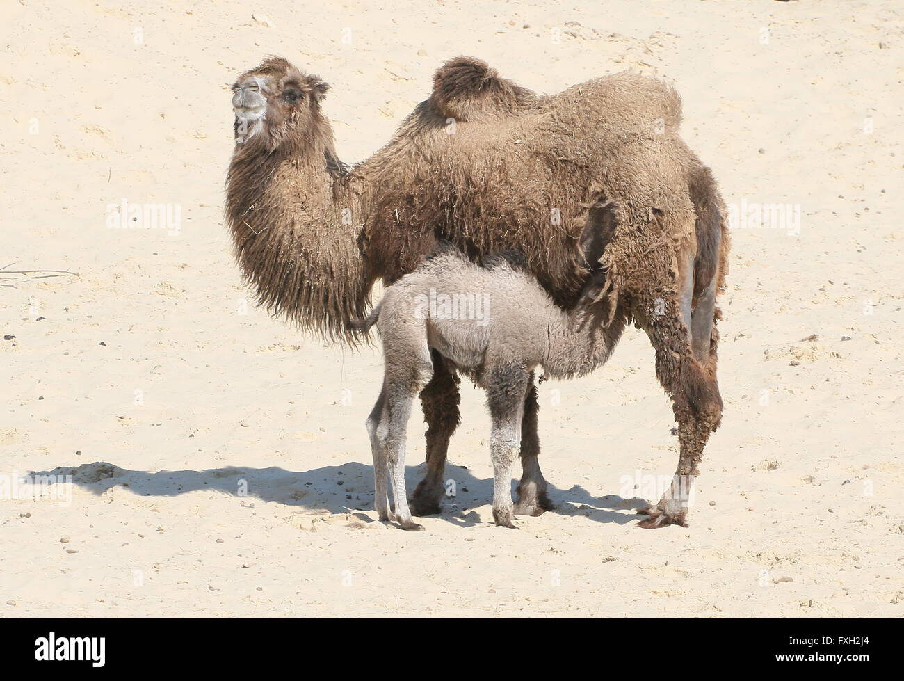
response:
[[[549,378],[571,378],[589,374],[605,364],[614,342],[603,326],[597,307],[579,303],[570,314],[550,326],[547,357],[543,371]]]

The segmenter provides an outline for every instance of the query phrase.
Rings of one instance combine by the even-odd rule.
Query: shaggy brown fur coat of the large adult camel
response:
[[[656,348],[679,422],[679,474],[696,471],[720,420],[715,298],[729,243],[710,171],[678,137],[671,87],[622,72],[537,97],[458,58],[391,141],[344,174],[320,109],[325,83],[274,58],[240,77],[239,93],[252,76],[267,79],[267,113],[258,134],[237,137],[227,216],[264,304],[349,340],[372,283],[414,270],[438,239],[476,260],[523,252],[565,308],[602,268],[609,319],[633,317]],[[426,405],[428,422],[438,419]],[[683,509],[663,501],[647,524],[679,521]]]

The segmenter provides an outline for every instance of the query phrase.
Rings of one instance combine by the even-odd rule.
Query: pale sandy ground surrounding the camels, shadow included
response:
[[[897,0],[159,5],[4,3],[0,266],[79,277],[0,288],[0,612],[904,614]],[[541,386],[557,512],[491,524],[466,385],[457,499],[425,533],[375,521],[379,354],[240,314],[228,85],[268,52],[334,85],[347,161],[459,53],[541,91],[658,73],[730,203],[800,204],[798,235],[734,232],[724,423],[690,528],[636,528],[636,497],[658,494],[623,478],[671,475],[677,448],[636,330],[598,374]],[[108,229],[123,197],[178,204],[181,233]],[[410,485],[422,430],[417,414]],[[58,467],[69,506],[9,498],[15,475]]]

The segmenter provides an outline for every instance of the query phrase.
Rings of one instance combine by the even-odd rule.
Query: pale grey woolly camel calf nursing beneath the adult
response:
[[[395,519],[403,529],[423,529],[408,506],[405,442],[411,402],[433,374],[436,351],[487,393],[493,517],[496,525],[514,527],[512,465],[533,370],[541,365],[550,378],[588,374],[607,360],[625,325],[624,317],[609,321],[596,303],[604,276],[604,270],[593,274],[577,307],[566,313],[515,256],[476,265],[445,248],[388,288],[367,319],[352,322],[358,332],[377,324],[383,342],[383,386],[367,419],[381,520],[391,517],[388,468]]]

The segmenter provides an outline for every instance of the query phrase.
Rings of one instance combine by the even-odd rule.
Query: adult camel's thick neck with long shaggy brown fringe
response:
[[[259,302],[300,326],[334,338],[362,317],[371,280],[359,236],[363,196],[355,178],[330,172],[332,140],[268,150],[252,137],[237,145],[226,213],[236,256]]]

